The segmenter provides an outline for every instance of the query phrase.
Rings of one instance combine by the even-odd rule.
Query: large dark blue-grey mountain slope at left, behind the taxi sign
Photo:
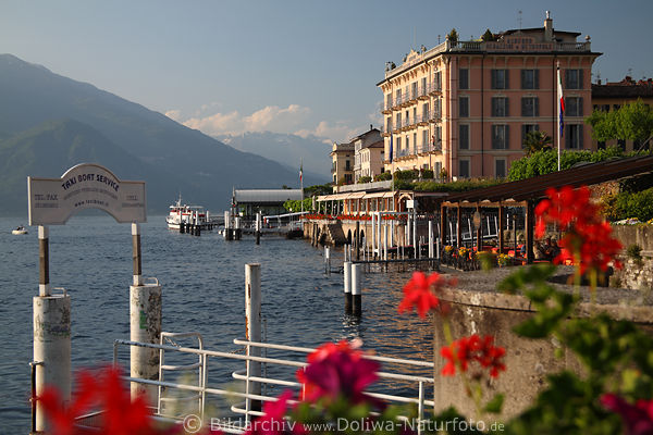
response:
[[[0,165],[13,162],[0,178],[3,213],[26,212],[19,199],[26,198],[27,175],[61,176],[81,162],[75,159],[104,159],[119,177],[146,181],[153,211],[165,210],[180,191],[189,202],[219,211],[234,186],[298,183],[297,171],[11,54],[0,54]],[[305,185],[317,183],[324,179],[305,178]]]

